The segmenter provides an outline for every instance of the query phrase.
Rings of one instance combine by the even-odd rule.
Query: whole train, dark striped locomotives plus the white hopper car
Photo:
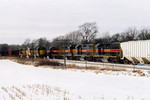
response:
[[[16,51],[8,51],[9,56],[27,58],[51,58],[69,60],[88,60],[111,63],[150,63],[150,40],[82,44],[70,46],[22,48]]]

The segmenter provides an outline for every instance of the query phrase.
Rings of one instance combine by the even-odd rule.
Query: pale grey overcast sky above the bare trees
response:
[[[52,40],[85,22],[101,34],[150,27],[150,0],[0,0],[0,43]]]

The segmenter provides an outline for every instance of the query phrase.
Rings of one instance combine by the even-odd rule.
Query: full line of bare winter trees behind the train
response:
[[[100,34],[101,36],[97,36]],[[111,42],[126,42],[132,40],[148,40],[150,39],[150,29],[136,29],[128,28],[124,32],[110,35],[109,32],[100,33],[96,22],[87,22],[78,27],[77,30],[69,32],[64,36],[58,36],[52,41],[46,38],[39,38],[31,41],[25,39],[21,45],[8,45],[0,44],[0,52],[11,50],[19,50],[24,47],[36,48],[44,46],[49,49],[50,46],[62,46],[62,45],[78,45],[78,44],[92,44],[92,43],[111,43]]]

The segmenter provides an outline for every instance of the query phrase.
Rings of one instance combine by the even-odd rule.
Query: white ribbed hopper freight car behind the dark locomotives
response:
[[[121,49],[124,63],[150,63],[150,40],[122,42]]]

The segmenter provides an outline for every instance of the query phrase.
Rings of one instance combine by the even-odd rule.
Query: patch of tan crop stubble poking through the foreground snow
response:
[[[51,87],[47,84],[1,87],[0,91],[4,93],[1,100],[42,100],[42,97],[46,97],[46,100],[70,100],[73,95],[60,87]]]

